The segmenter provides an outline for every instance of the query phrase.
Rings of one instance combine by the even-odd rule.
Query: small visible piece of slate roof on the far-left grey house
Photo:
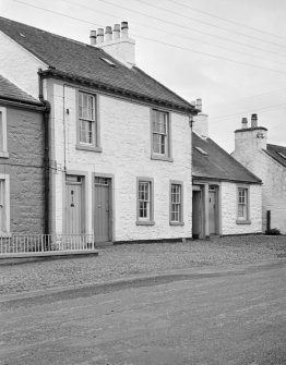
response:
[[[21,101],[25,104],[43,106],[33,96],[26,94],[21,88],[0,75],[0,99]]]

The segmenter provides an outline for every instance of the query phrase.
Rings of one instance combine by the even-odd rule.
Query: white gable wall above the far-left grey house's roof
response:
[[[36,99],[40,68],[47,65],[0,32],[0,74]]]

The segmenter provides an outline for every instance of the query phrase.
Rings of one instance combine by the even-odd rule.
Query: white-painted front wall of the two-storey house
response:
[[[64,88],[67,169],[86,171],[88,230],[92,232],[92,173],[115,174],[115,241],[191,236],[191,129],[186,114],[171,112],[174,162],[151,159],[151,108],[98,95],[103,153],[75,149],[76,89]],[[63,86],[53,86],[55,158],[63,168]],[[155,226],[136,226],[136,178],[154,179]],[[169,226],[169,181],[183,181],[184,226]],[[56,231],[62,232],[64,173],[56,173]]]

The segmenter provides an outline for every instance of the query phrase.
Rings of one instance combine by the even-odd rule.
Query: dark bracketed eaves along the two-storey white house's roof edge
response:
[[[38,74],[43,77],[57,77],[57,78],[61,78],[61,80],[65,78],[65,80],[70,80],[70,81],[73,81],[73,82],[76,82],[76,83],[82,83],[82,84],[85,84],[85,85],[87,84],[87,85],[93,86],[93,87],[95,86],[97,89],[104,89],[104,90],[112,93],[112,94],[122,95],[122,96],[126,96],[126,97],[130,97],[130,98],[138,99],[138,100],[143,100],[143,101],[147,101],[147,102],[152,102],[152,104],[156,104],[156,105],[159,105],[159,106],[165,106],[167,108],[175,109],[175,110],[186,112],[186,113],[189,113],[189,114],[195,114],[196,113],[196,109],[191,105],[190,105],[190,108],[187,108],[187,107],[183,107],[183,106],[180,106],[180,105],[177,105],[177,104],[164,100],[164,99],[159,99],[159,98],[155,99],[155,98],[148,97],[148,96],[140,94],[140,93],[133,93],[133,92],[127,90],[124,88],[114,87],[114,86],[110,86],[108,84],[92,81],[91,78],[85,78],[85,77],[78,76],[78,75],[74,75],[74,74],[71,74],[71,73],[68,73],[68,72],[59,71],[59,70],[57,70],[52,66],[49,66],[48,70],[39,70]]]

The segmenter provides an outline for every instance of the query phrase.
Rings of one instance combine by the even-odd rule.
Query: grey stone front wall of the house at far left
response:
[[[43,115],[39,112],[7,107],[7,130],[9,158],[0,158],[0,173],[10,175],[10,230],[17,234],[41,234]]]

